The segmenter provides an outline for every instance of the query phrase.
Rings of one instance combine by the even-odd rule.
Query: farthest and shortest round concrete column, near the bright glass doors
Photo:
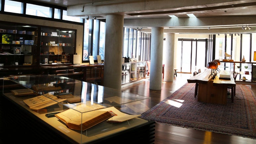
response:
[[[167,33],[165,35],[166,46],[164,48],[164,81],[173,81],[174,76],[174,43],[175,34]]]

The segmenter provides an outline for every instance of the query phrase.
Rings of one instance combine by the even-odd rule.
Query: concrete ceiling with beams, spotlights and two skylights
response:
[[[124,26],[164,27],[171,33],[251,33],[256,30],[256,0],[33,0],[67,7],[78,17],[124,15]],[[187,14],[194,14],[189,18]],[[171,18],[175,15],[178,18]],[[250,25],[250,31],[242,27]]]

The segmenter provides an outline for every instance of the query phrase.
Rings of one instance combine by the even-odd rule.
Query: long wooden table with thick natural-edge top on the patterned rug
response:
[[[211,69],[206,69],[197,75],[188,79],[188,83],[198,83],[197,101],[206,103],[227,104],[228,87],[232,87],[232,102],[234,101],[234,87],[235,80],[233,72],[230,74],[230,80],[219,79],[219,73],[215,76],[214,80],[211,74]]]

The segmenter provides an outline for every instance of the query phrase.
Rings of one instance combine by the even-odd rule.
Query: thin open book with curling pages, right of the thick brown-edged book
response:
[[[130,119],[136,118],[138,116],[141,116],[141,115],[129,115],[129,114],[123,113],[113,106],[103,108],[100,110],[109,111],[110,113],[112,113],[112,115],[114,115],[113,117],[107,120],[108,123],[121,123]]]

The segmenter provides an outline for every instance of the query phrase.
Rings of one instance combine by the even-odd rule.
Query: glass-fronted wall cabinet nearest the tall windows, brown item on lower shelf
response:
[[[75,30],[42,28],[40,65],[72,64],[75,36]]]

